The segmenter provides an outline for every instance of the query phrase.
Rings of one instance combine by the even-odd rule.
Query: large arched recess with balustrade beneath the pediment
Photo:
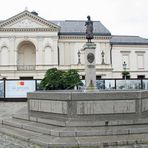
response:
[[[24,41],[18,46],[18,69],[34,70],[36,64],[35,46],[30,41]]]

